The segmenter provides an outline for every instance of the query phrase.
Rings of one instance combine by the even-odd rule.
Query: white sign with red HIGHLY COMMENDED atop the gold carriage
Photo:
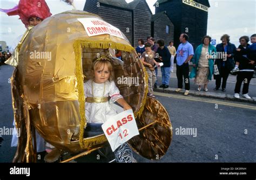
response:
[[[78,18],[78,20],[83,24],[89,37],[100,34],[110,34],[124,39],[121,31],[117,27],[114,27],[103,20],[97,18]]]

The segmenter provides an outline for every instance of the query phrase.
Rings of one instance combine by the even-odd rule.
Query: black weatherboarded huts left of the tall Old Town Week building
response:
[[[166,42],[173,40],[173,24],[169,17],[166,14],[152,15],[145,0],[130,3],[125,0],[90,0],[86,1],[84,11],[95,13],[119,28],[132,46],[138,45],[138,39],[146,41],[149,36]],[[166,33],[166,26],[170,33]]]

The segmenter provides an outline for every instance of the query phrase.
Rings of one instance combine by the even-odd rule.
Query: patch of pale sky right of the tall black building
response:
[[[242,35],[249,37],[256,33],[255,0],[210,0],[207,33],[217,43],[223,34],[230,35],[231,42],[239,45]]]

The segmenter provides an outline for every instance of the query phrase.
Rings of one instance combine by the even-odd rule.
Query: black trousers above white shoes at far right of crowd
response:
[[[235,93],[240,93],[242,82],[244,81],[244,87],[242,87],[242,94],[248,93],[250,81],[252,79],[253,72],[240,71],[237,74],[237,83],[235,83]]]

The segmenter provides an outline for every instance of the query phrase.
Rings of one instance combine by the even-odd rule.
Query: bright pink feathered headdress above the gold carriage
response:
[[[52,15],[45,0],[20,0],[14,8],[0,9],[0,11],[7,13],[8,16],[18,15],[26,27],[29,26],[29,18],[31,17],[44,20]]]

